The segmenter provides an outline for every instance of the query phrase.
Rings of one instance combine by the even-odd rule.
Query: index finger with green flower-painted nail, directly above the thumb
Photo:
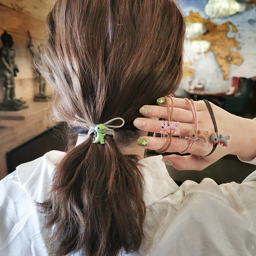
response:
[[[137,143],[147,149],[150,150],[160,150],[163,148],[167,138],[157,138],[157,137],[141,137]],[[210,139],[208,139],[208,143],[205,143],[203,140],[196,140],[194,146],[189,151],[191,154],[206,156],[211,152],[213,145],[210,143]],[[185,138],[177,138],[172,137],[172,142],[170,147],[166,152],[183,152],[187,150],[190,145],[191,140]]]

